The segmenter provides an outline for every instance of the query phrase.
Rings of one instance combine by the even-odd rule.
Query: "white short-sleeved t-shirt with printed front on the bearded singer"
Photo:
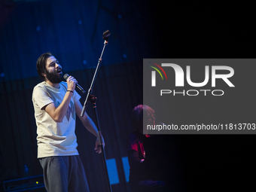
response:
[[[78,143],[75,136],[75,102],[78,102],[81,96],[74,90],[68,111],[62,123],[54,121],[42,109],[51,102],[54,103],[56,108],[60,105],[68,86],[66,82],[61,82],[59,85],[58,89],[44,81],[36,85],[32,93],[38,134],[38,158],[78,155]]]

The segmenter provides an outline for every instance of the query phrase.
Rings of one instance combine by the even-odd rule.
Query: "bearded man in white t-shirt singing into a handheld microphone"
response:
[[[44,171],[48,192],[89,191],[75,136],[75,114],[86,129],[96,136],[95,150],[101,153],[99,134],[85,112],[81,117],[81,96],[75,91],[75,78],[62,82],[62,67],[52,53],[44,53],[36,62],[43,80],[32,93],[37,125],[38,159]],[[102,139],[103,141],[103,139]]]

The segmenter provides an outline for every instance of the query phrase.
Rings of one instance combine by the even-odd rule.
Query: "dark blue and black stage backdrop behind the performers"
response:
[[[254,7],[246,2],[1,0],[1,182],[23,178],[25,165],[29,176],[42,174],[31,100],[40,82],[35,62],[41,53],[56,55],[64,72],[87,90],[103,47],[102,32],[110,30],[93,94],[99,99],[106,158],[117,166],[119,182],[112,190],[130,191],[122,157],[127,156],[131,111],[142,104],[142,59],[254,58],[254,21]],[[87,113],[94,120],[90,106]],[[90,190],[106,191],[94,136],[79,120],[76,133]],[[157,175],[177,191],[245,191],[255,178],[254,140],[156,136],[149,146],[157,151]]]

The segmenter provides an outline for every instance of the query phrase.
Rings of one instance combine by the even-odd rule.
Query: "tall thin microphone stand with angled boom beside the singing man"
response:
[[[105,31],[103,32],[103,39],[105,40],[104,41],[104,47],[102,49],[102,53],[99,57],[99,61],[98,61],[98,65],[96,67],[96,70],[94,72],[94,75],[93,75],[93,80],[90,84],[90,88],[87,92],[87,97],[84,101],[84,107],[83,107],[83,110],[81,112],[81,117],[84,116],[84,111],[86,110],[87,108],[87,101],[89,102],[92,102],[93,104],[93,111],[94,111],[94,114],[96,116],[96,127],[98,129],[98,134],[99,134],[99,142],[100,142],[100,147],[101,147],[101,150],[102,150],[102,158],[103,158],[103,163],[104,163],[104,166],[105,166],[105,173],[106,173],[106,179],[107,179],[107,182],[108,182],[108,192],[112,192],[111,190],[111,184],[109,182],[109,177],[108,177],[108,169],[107,169],[107,163],[106,163],[106,159],[105,159],[105,151],[104,151],[104,145],[103,145],[103,141],[102,141],[102,133],[100,132],[100,128],[99,128],[99,118],[98,118],[98,114],[97,114],[97,110],[96,110],[96,96],[92,96],[91,93],[93,92],[93,86],[94,86],[94,82],[96,81],[96,76],[98,75],[98,72],[99,72],[99,66],[102,62],[102,55],[104,53],[104,50],[105,50],[105,46],[108,44],[108,37],[110,35],[110,32],[109,31]]]

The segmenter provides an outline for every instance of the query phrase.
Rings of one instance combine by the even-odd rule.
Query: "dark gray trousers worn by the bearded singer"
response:
[[[47,192],[89,192],[80,157],[53,156],[39,159]]]

